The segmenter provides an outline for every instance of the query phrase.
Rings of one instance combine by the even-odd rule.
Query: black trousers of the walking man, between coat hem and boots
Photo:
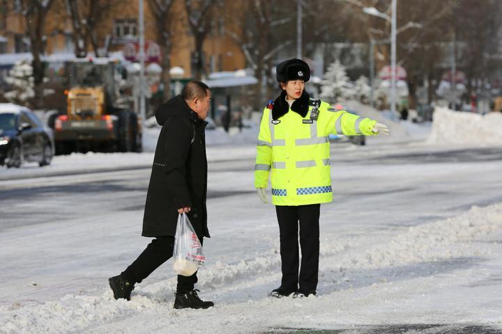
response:
[[[202,244],[202,238],[200,241]],[[123,271],[122,275],[132,282],[141,283],[155,269],[172,257],[173,250],[174,237],[157,237],[146,246],[143,253]],[[189,292],[194,289],[195,283],[197,283],[197,272],[192,276],[178,275],[176,292]]]

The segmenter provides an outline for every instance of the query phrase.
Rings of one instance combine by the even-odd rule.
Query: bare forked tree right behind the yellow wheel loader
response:
[[[99,24],[102,23],[119,0],[66,0],[73,26],[75,55],[84,58],[87,55],[89,42],[96,56],[105,56],[99,52]]]

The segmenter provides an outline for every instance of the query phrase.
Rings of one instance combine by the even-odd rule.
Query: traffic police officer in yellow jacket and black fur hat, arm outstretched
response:
[[[254,186],[266,203],[271,176],[272,203],[280,231],[281,285],[271,296],[315,295],[319,271],[319,210],[333,199],[329,134],[389,134],[376,120],[363,118],[305,92],[310,68],[300,59],[277,65],[282,92],[264,109],[258,135]],[[298,224],[299,222],[299,224]],[[301,269],[298,276],[298,225]]]

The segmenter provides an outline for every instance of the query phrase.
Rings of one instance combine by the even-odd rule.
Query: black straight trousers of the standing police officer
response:
[[[275,207],[280,232],[281,287],[301,292],[317,288],[319,273],[319,213],[321,205]],[[301,269],[298,278],[298,221],[300,226]]]

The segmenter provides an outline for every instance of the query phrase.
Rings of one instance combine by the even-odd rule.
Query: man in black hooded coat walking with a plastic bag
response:
[[[119,276],[109,278],[114,298],[130,300],[135,283],[140,283],[173,254],[178,214],[185,212],[202,242],[209,237],[206,192],[207,160],[204,119],[211,106],[211,91],[200,81],[190,81],[181,95],[155,111],[162,125],[155,148],[143,218],[144,237],[151,244]],[[178,275],[174,308],[209,308],[201,301],[194,285],[197,273]]]

